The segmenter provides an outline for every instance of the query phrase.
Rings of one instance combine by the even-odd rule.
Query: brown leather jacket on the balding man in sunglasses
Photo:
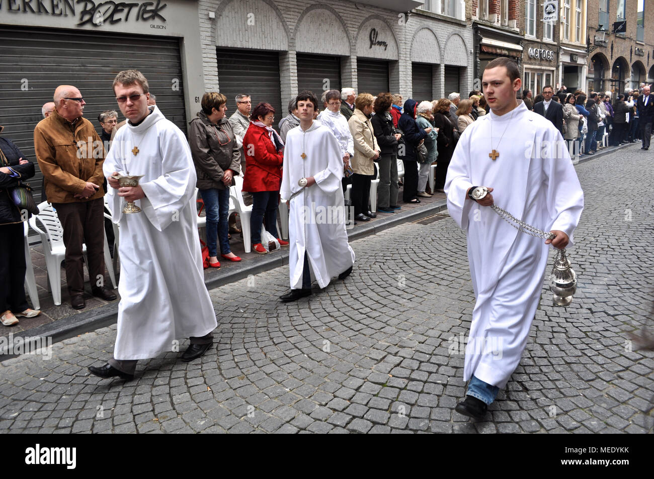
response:
[[[34,151],[50,203],[81,203],[105,195],[105,148],[86,118],[78,118],[73,126],[54,110],[34,129]],[[86,182],[99,185],[99,190],[89,199],[75,198]]]

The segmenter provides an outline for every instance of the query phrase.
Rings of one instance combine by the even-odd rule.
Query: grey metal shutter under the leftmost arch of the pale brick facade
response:
[[[279,53],[260,50],[230,50],[216,48],[218,86],[227,97],[227,115],[236,111],[234,98],[247,93],[252,108],[258,103],[270,103],[275,108],[273,127],[286,116],[288,105],[281,104]]]

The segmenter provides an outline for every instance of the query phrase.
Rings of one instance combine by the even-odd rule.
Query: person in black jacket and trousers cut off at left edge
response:
[[[19,180],[32,176],[34,164],[25,159],[13,142],[0,138],[0,320],[5,326],[18,324],[16,316],[33,318],[41,314],[27,306],[25,297],[23,222],[27,218],[7,191],[18,186]]]

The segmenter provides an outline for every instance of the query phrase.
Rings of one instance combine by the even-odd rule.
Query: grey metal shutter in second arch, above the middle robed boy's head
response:
[[[296,55],[298,91],[311,90],[318,97],[324,90],[341,90],[341,59],[322,55]],[[326,82],[325,80],[329,80]],[[322,110],[322,105],[318,105]]]

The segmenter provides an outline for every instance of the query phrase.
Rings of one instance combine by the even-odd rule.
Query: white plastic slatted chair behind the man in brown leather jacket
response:
[[[37,225],[37,221],[43,225],[41,229]],[[41,236],[41,244],[43,244],[43,254],[45,256],[45,263],[48,269],[48,283],[52,290],[52,299],[55,305],[61,305],[61,261],[65,259],[66,247],[63,245],[63,227],[59,221],[59,217],[55,212],[52,205],[44,201],[39,205],[39,214],[29,218],[29,225],[31,228],[39,233]],[[104,227],[102,229],[104,234]],[[105,267],[109,271],[109,278],[114,289],[117,288],[116,276],[114,269],[111,266],[111,255],[109,254],[109,245],[107,244],[107,235],[105,237]],[[82,254],[84,254],[84,261],[88,265],[88,258],[86,257],[86,244],[82,244]],[[93,281],[94,278],[91,278]]]

